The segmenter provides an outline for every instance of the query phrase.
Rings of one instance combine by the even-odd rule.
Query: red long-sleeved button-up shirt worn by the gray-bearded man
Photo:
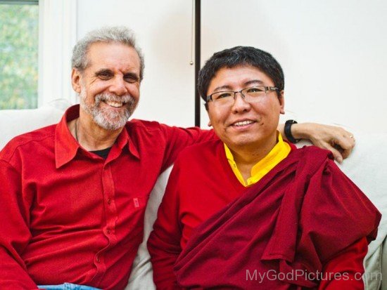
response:
[[[11,140],[0,152],[0,289],[71,282],[124,289],[158,175],[212,131],[129,121],[107,159],[84,150],[67,122]],[[28,121],[28,120],[26,120]]]

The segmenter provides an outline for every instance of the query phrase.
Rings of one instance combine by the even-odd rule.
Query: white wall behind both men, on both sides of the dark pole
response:
[[[137,33],[146,70],[134,117],[194,124],[191,1],[79,0],[77,15],[77,37],[101,25]],[[202,60],[236,45],[262,48],[284,68],[289,119],[386,132],[385,15],[383,0],[203,0]]]

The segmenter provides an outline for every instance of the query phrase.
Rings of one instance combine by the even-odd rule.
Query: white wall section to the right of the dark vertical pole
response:
[[[203,59],[262,48],[281,63],[286,110],[299,120],[387,131],[387,1],[203,2]]]

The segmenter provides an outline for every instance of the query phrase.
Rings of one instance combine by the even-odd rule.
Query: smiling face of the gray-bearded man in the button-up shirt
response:
[[[122,128],[139,102],[139,55],[124,44],[95,43],[89,47],[87,63],[83,72],[72,70],[80,117],[106,130]]]

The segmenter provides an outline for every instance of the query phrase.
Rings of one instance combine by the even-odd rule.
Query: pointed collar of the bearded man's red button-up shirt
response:
[[[69,107],[68,110],[66,110],[65,114],[63,114],[61,121],[58,123],[58,125],[56,125],[55,163],[57,169],[74,159],[77,154],[78,148],[80,150],[84,150],[77,142],[77,140],[75,140],[75,138],[72,136],[67,125],[69,121],[72,121],[77,117],[80,117],[80,105],[74,105],[72,107]],[[125,145],[127,145],[128,150],[131,154],[133,154],[138,159],[140,158],[137,147],[132,142],[127,132],[127,128],[124,128],[121,131],[113,147],[118,146],[121,152],[122,149],[124,149]],[[115,157],[118,157],[118,155]]]

